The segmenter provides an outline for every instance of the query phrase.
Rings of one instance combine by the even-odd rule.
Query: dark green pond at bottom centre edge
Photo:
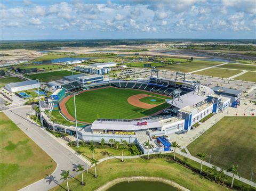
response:
[[[111,188],[109,188],[107,191],[141,191],[141,190],[147,190],[147,191],[178,191],[178,188],[175,188],[173,186],[164,184],[162,182],[153,182],[153,181],[130,181],[130,182],[120,182]]]

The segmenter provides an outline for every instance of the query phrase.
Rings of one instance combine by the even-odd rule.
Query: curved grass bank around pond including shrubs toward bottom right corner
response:
[[[200,164],[189,160],[179,154],[176,154],[176,161],[173,160],[173,154],[150,155],[150,160],[145,157],[138,159],[126,159],[120,162],[119,159],[111,159],[97,165],[98,178],[94,178],[94,168],[87,174],[84,172],[85,186],[81,186],[81,176],[69,180],[69,188],[72,190],[95,190],[110,181],[122,177],[157,177],[173,181],[189,190],[228,190],[225,185],[230,185],[231,177],[218,178],[214,182],[213,175],[209,168],[203,167],[203,173],[200,175]],[[65,186],[63,182],[61,186]],[[253,190],[249,185],[235,180],[234,187],[243,190]],[[57,186],[53,190],[62,190]]]

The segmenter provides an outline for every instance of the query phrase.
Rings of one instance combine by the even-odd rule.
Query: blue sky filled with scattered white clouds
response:
[[[255,39],[256,1],[4,1],[1,40]]]

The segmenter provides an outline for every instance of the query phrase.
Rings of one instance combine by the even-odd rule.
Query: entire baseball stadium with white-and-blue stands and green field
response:
[[[230,101],[198,81],[186,80],[185,74],[179,72],[175,79],[158,78],[157,74],[149,79],[127,81],[105,81],[97,75],[80,74],[72,79],[52,94],[45,108],[59,111],[73,126],[55,124],[54,128],[62,132],[65,128],[65,132],[75,134],[76,114],[79,139],[126,140],[137,143],[142,152],[146,140],[154,145],[150,152],[169,151],[170,143],[165,137],[193,129],[199,120],[223,109],[221,100],[225,106]],[[51,126],[49,116],[43,113],[43,118]]]

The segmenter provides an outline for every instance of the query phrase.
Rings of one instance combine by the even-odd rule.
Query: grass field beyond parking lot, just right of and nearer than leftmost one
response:
[[[195,74],[204,75],[204,76],[215,76],[220,78],[229,78],[234,76],[242,71],[239,70],[228,70],[228,69],[221,69],[221,68],[210,68],[207,70],[202,70],[199,72],[195,72]]]

